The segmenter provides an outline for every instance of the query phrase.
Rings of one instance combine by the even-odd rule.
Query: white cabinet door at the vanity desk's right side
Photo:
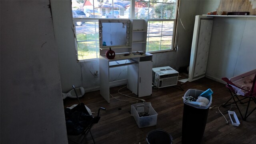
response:
[[[138,70],[138,97],[152,94],[152,61],[139,63]]]

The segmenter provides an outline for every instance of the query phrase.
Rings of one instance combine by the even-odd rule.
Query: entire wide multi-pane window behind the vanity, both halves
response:
[[[147,52],[172,50],[177,1],[72,0],[78,60],[99,58],[99,18],[147,19]]]

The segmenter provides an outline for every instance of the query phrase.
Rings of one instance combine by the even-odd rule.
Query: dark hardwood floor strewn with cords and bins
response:
[[[110,94],[122,100],[134,101],[132,98],[118,94],[118,89],[122,87],[124,86],[110,88]],[[98,108],[106,108],[106,111],[101,111],[100,121],[91,130],[96,144],[146,144],[147,133],[159,128],[173,137],[173,144],[181,144],[184,106],[182,96],[188,89],[207,90],[211,88],[214,92],[211,106],[223,104],[231,97],[224,84],[208,78],[186,82],[182,84],[181,88],[184,91],[177,86],[153,88],[152,96],[142,97],[146,102],[151,102],[152,107],[158,113],[156,126],[145,128],[138,128],[134,118],[130,115],[131,104],[136,102],[124,102],[110,97],[110,103],[108,103],[100,96],[100,91],[88,92],[80,98],[80,101],[86,104],[92,112],[95,112],[94,116],[97,115]],[[122,89],[121,92],[136,97],[127,88]],[[73,104],[78,104],[76,99],[66,98],[64,100],[65,108]],[[251,105],[255,106],[254,103]],[[240,107],[246,108],[246,106]],[[225,108],[220,106],[222,112],[229,109],[230,106]],[[243,121],[236,106],[232,106],[231,110],[236,112],[240,126],[231,124],[227,112],[224,113],[228,120],[228,124],[226,124],[225,118],[220,113],[216,113],[218,106],[214,106],[208,112],[202,144],[256,144],[256,111],[246,121]],[[87,135],[84,143],[93,144],[90,134]]]

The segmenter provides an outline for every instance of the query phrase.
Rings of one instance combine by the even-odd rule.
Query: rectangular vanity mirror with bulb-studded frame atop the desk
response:
[[[99,39],[101,49],[130,46],[130,20],[100,19]]]

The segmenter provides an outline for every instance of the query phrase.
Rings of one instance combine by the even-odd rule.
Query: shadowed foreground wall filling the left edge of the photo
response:
[[[67,144],[48,0],[0,1],[1,144]]]

